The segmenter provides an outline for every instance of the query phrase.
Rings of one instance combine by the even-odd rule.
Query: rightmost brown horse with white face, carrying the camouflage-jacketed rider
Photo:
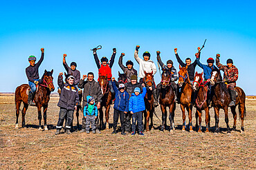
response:
[[[221,73],[219,70],[212,70],[210,83],[213,85],[212,90],[212,104],[215,112],[215,131],[219,132],[219,109],[223,109],[225,112],[225,122],[227,125],[228,133],[230,133],[230,127],[228,125],[228,105],[230,103],[230,94],[226,83],[222,81]],[[235,106],[230,107],[234,118],[233,130],[237,125],[237,113],[235,111],[237,105],[239,109],[239,116],[241,119],[241,133],[244,132],[244,117],[246,116],[246,94],[240,87],[235,87],[237,92]]]

